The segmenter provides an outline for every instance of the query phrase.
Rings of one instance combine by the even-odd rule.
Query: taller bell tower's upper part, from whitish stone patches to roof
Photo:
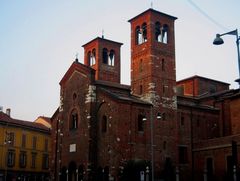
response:
[[[143,99],[174,96],[176,85],[174,20],[148,9],[131,23],[131,86]]]

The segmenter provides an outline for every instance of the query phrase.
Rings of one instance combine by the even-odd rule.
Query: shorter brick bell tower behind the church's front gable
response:
[[[84,64],[96,70],[95,80],[120,83],[122,43],[97,37],[83,45]]]

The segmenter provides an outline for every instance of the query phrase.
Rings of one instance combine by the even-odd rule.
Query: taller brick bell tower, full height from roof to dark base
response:
[[[154,9],[148,9],[129,20],[131,88],[134,95],[153,105],[149,117],[153,120],[156,171],[162,170],[169,159],[172,162],[177,159],[174,40],[176,19]],[[157,115],[161,115],[161,120],[157,119]]]

